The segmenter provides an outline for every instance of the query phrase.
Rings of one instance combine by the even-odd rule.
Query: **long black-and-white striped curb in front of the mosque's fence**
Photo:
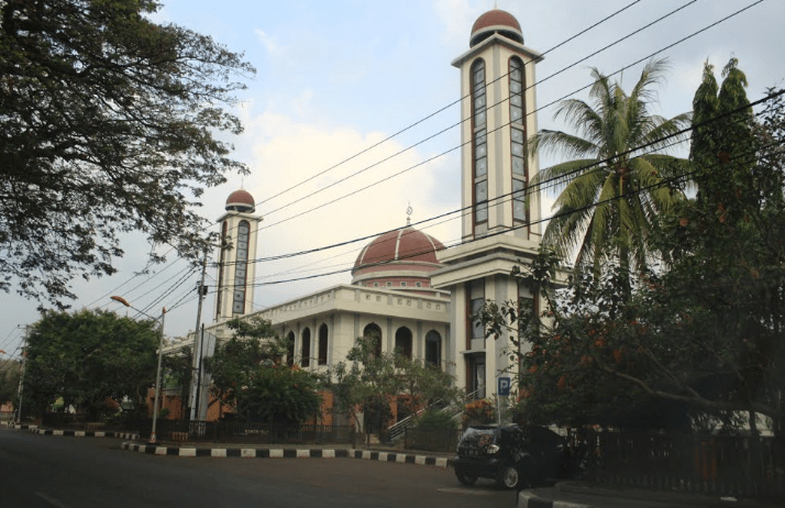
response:
[[[122,443],[123,450],[168,456],[211,456],[242,459],[365,459],[369,461],[396,462],[398,464],[452,466],[452,459],[406,453],[372,452],[349,449],[267,449],[267,448],[187,448],[159,446],[155,444]]]

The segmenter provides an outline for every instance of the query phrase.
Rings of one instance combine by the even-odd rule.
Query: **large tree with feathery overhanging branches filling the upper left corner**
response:
[[[210,37],[148,18],[155,0],[0,1],[0,288],[59,309],[110,275],[141,231],[196,257],[207,186],[226,172],[222,108],[255,70]],[[221,136],[223,137],[223,136]],[[161,261],[152,255],[153,261]]]

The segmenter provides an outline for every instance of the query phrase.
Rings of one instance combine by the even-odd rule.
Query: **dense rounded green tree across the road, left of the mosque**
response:
[[[24,400],[43,412],[58,398],[91,416],[110,398],[141,408],[155,380],[159,343],[155,321],[101,310],[44,311],[27,335]]]

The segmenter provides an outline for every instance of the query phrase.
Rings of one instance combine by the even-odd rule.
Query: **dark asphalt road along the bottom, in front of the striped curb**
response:
[[[155,456],[114,439],[0,430],[0,507],[511,508],[513,492],[452,470],[355,459]]]

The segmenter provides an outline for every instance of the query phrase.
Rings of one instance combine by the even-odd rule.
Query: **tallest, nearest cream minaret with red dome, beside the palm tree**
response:
[[[461,70],[461,201],[463,244],[441,251],[446,266],[434,288],[450,289],[451,340],[458,386],[478,397],[496,393],[497,378],[517,368],[505,350],[508,336],[484,338],[472,317],[485,300],[530,299],[510,276],[512,266],[540,246],[539,192],[528,188],[538,172],[526,140],[537,132],[534,65],[540,53],[523,45],[518,20],[498,9],[472,27],[469,49],[452,64]],[[535,302],[534,307],[539,303]],[[463,365],[462,365],[463,363]]]

